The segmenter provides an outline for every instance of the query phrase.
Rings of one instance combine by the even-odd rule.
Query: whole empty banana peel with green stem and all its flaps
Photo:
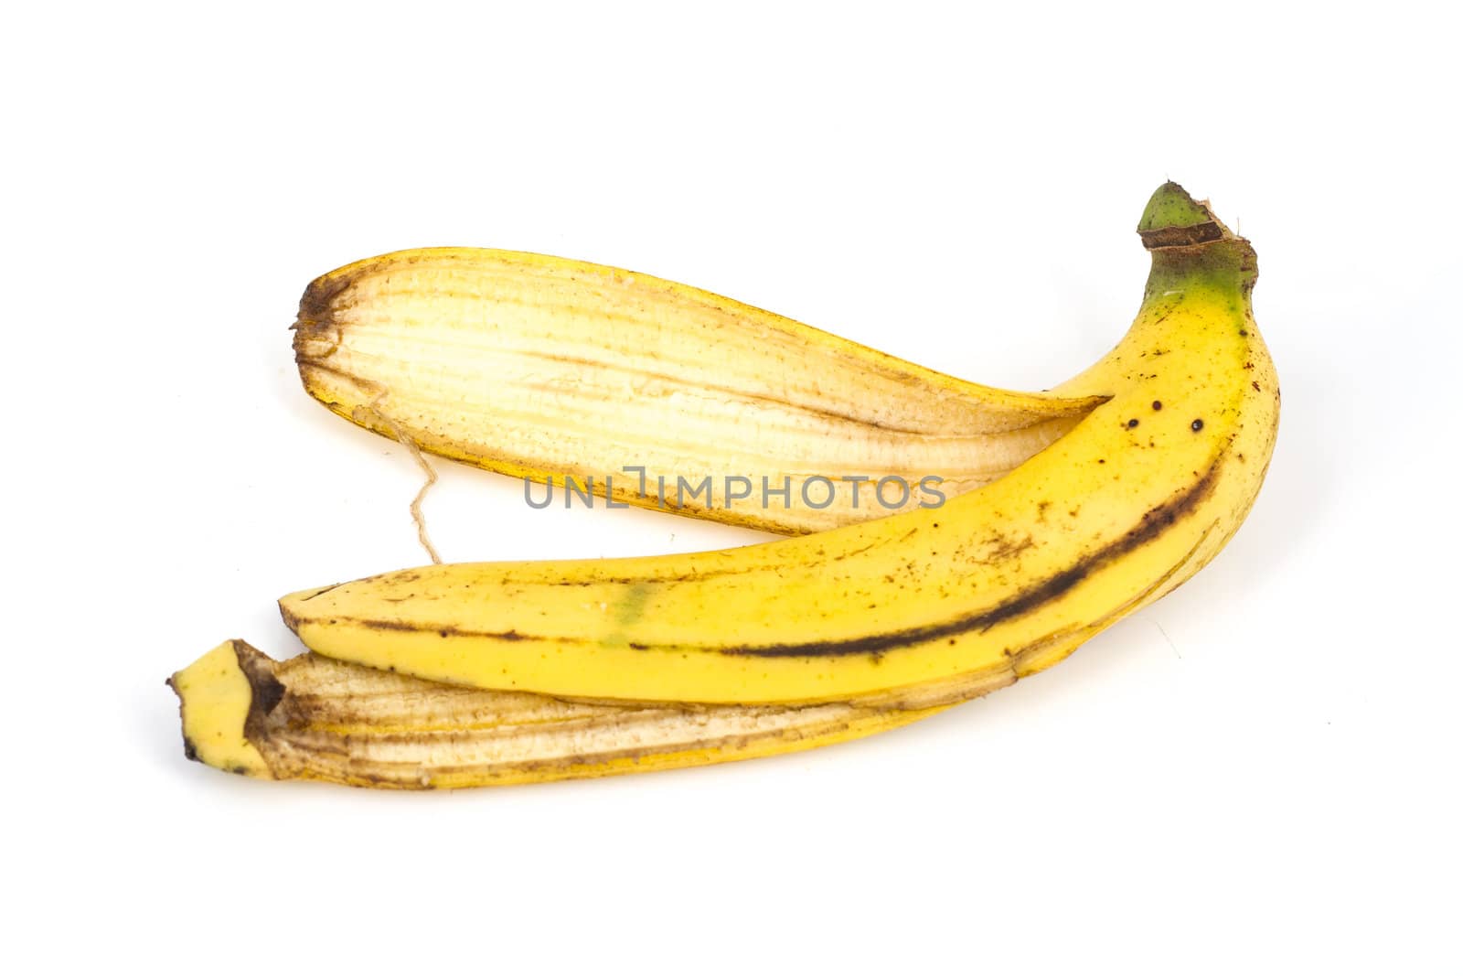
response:
[[[348,284],[306,297],[297,351],[306,345],[307,385],[312,376],[335,383],[325,399],[369,426],[392,402],[414,404],[380,427],[407,430],[427,449],[484,467],[522,473],[515,465],[528,455],[505,461],[497,448],[515,435],[484,435],[486,405],[470,402],[452,421],[459,427],[446,423],[451,410],[430,407],[454,397],[471,401],[471,383],[454,379],[446,360],[483,356],[500,370],[496,378],[518,376],[518,366],[505,363],[519,363],[519,354],[505,360],[477,332],[492,331],[500,315],[519,315],[533,325],[503,332],[509,345],[547,344],[553,357],[578,344],[591,375],[644,376],[648,360],[614,350],[616,332],[591,313],[594,301],[604,301],[616,323],[629,320],[636,335],[655,337],[652,345],[667,353],[657,369],[674,378],[677,391],[717,382],[695,351],[708,335],[732,360],[726,375],[736,379],[701,401],[674,394],[677,408],[655,414],[660,427],[635,427],[647,433],[628,440],[619,427],[573,427],[575,408],[565,407],[573,394],[563,383],[534,392],[528,380],[505,380],[519,391],[515,402],[533,402],[534,423],[544,424],[547,440],[533,455],[540,459],[568,457],[565,445],[578,445],[576,438],[604,448],[601,438],[619,436],[594,464],[622,464],[626,443],[652,449],[660,436],[682,443],[682,424],[726,424],[730,438],[737,424],[720,413],[730,397],[739,416],[772,404],[774,413],[799,421],[774,427],[787,436],[771,440],[771,457],[743,452],[752,442],[765,451],[756,438],[734,442],[726,457],[715,443],[701,446],[695,464],[715,465],[712,471],[759,461],[772,473],[816,473],[803,458],[780,454],[815,446],[819,462],[834,464],[828,455],[841,446],[863,464],[875,430],[895,438],[890,458],[906,457],[898,439],[907,436],[907,457],[925,464],[933,457],[930,432],[941,430],[936,440],[958,440],[961,423],[976,424],[973,433],[985,440],[976,451],[967,439],[958,457],[1004,457],[1011,467],[941,505],[914,503],[885,518],[854,515],[851,505],[831,515],[811,509],[768,518],[759,525],[821,531],[762,546],[426,566],[290,594],[279,601],[285,622],[316,654],[275,664],[230,642],[176,675],[190,749],[212,765],[275,778],[468,786],[594,776],[866,735],[1062,660],[1219,552],[1249,511],[1274,445],[1279,388],[1251,316],[1255,260],[1248,241],[1172,183],[1150,200],[1140,236],[1153,271],[1132,328],[1052,398],[963,385],[806,326],[770,323],[775,316],[724,300],[708,310],[712,297],[652,279],[638,279],[639,287],[669,297],[663,306],[635,304],[655,309],[641,320],[625,304],[628,293],[607,291],[603,279],[587,285],[579,279],[587,266],[557,259],[528,260],[519,274],[511,268],[524,256],[427,252],[421,281],[415,265],[395,265],[398,258],[380,259],[395,271],[379,278],[336,272]],[[455,309],[455,322],[437,320],[433,296],[442,285],[423,284],[440,281],[437,275],[452,282],[445,294],[456,297],[443,307]],[[528,312],[499,309],[505,294],[512,296],[506,306]],[[464,296],[471,299],[465,304]],[[404,313],[402,301],[413,310]],[[535,313],[538,304],[550,312]],[[474,338],[443,341],[451,351],[433,359],[410,338],[424,322],[433,322],[429,332]],[[743,332],[783,338],[737,345]],[[353,334],[360,345],[348,341]],[[478,351],[462,353],[464,344]],[[594,351],[584,354],[585,347]],[[386,366],[394,350],[410,369]],[[543,348],[534,350],[528,359],[543,359]],[[789,366],[794,353],[821,364]],[[626,361],[632,364],[622,369]],[[768,379],[778,369],[797,380]],[[849,380],[860,395],[897,378],[890,380],[897,402],[866,407],[838,438],[808,436],[811,417],[847,420],[850,386],[837,378],[860,370],[860,379]],[[443,378],[451,382],[436,385]],[[822,410],[816,395],[825,385]],[[1058,413],[1033,421],[1043,404],[1059,404]],[[474,413],[478,407],[487,413]],[[1028,452],[1030,432],[1042,424],[1065,424],[1065,432]],[[685,442],[693,440],[688,435]],[[1011,451],[1012,443],[1026,446]],[[685,457],[680,448],[667,454],[670,474],[680,473],[676,462]],[[961,470],[969,476],[974,468]],[[552,478],[554,468],[530,474]],[[732,521],[749,518],[743,511]],[[822,530],[825,518],[832,528]]]

